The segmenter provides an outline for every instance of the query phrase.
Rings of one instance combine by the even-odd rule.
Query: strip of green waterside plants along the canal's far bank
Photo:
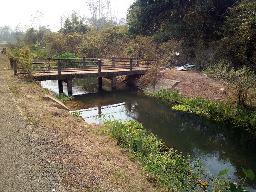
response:
[[[256,112],[248,110],[243,105],[231,104],[230,98],[226,102],[214,102],[201,97],[185,98],[178,94],[178,90],[169,92],[162,89],[158,92],[145,92],[149,96],[166,100],[173,104],[173,110],[200,114],[219,122],[233,124],[256,134]]]

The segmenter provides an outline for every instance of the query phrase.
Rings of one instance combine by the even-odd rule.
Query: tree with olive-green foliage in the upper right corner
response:
[[[242,0],[228,9],[222,28],[220,52],[237,66],[248,66],[256,71],[256,1]]]

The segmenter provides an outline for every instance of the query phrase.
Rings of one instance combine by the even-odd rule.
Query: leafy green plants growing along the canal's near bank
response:
[[[149,181],[163,184],[168,191],[200,191],[200,187],[205,187],[200,183],[205,177],[202,164],[197,160],[195,169],[189,157],[185,158],[177,150],[167,148],[158,136],[147,135],[142,124],[134,120],[121,122],[105,119],[105,125],[112,130],[111,135],[118,144],[129,149],[131,157],[141,162]]]

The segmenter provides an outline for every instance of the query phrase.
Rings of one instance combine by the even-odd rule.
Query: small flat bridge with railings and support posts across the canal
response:
[[[36,61],[36,62],[35,62]],[[72,79],[98,77],[99,88],[102,88],[102,77],[111,80],[112,90],[116,88],[116,76],[142,75],[150,70],[150,62],[156,60],[139,60],[139,58],[75,58],[75,59],[35,59],[32,68],[22,68],[11,59],[14,75],[32,73],[34,78],[58,80],[59,92],[63,92],[63,81],[67,83],[68,94],[72,95]]]

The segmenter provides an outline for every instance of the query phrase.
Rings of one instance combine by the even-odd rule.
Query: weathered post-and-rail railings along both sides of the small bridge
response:
[[[39,62],[38,62],[39,61]],[[108,70],[110,68],[122,69],[130,68],[148,68],[150,62],[159,62],[159,59],[155,60],[139,60],[137,58],[64,58],[64,59],[34,59],[32,67],[26,69],[22,68],[20,63],[16,60],[10,59],[11,66],[14,68],[14,75],[28,74],[28,70],[33,73],[52,73],[62,71],[78,72],[84,70],[97,70],[100,73],[102,70]],[[142,65],[140,65],[142,64]]]

